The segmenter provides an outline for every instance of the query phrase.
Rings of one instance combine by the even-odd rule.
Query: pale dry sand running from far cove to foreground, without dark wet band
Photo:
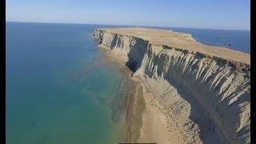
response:
[[[131,75],[131,71],[124,64],[127,61],[126,57],[103,47],[99,49],[104,52],[106,58],[112,62],[118,62],[118,66],[120,66],[126,74]],[[145,100],[145,109],[142,113],[142,128],[140,129],[137,141],[144,143],[155,142],[158,144],[184,143],[182,134],[179,134],[176,124],[167,117],[166,111],[158,104],[152,94],[146,91],[145,82],[137,77],[130,78],[143,86],[142,95]]]

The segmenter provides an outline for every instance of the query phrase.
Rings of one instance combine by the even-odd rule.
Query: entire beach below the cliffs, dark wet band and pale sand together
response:
[[[117,64],[124,74],[127,74],[131,82],[128,83],[128,94],[126,95],[128,101],[126,102],[128,107],[126,128],[128,130],[125,131],[126,138],[122,139],[125,139],[126,142],[184,143],[175,122],[168,118],[167,112],[147,90],[146,81],[137,76],[131,77],[132,71],[125,65],[126,56],[103,46],[98,46],[98,49],[102,51],[108,61]],[[138,107],[140,108],[138,109]]]

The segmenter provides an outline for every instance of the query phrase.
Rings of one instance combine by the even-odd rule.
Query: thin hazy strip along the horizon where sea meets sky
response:
[[[6,22],[18,22],[18,21],[6,21]],[[224,29],[224,28],[200,28],[200,27],[178,27],[178,26],[142,26],[142,25],[114,25],[114,24],[98,24],[98,23],[72,23],[72,22],[26,22],[20,21],[20,23],[49,23],[49,24],[76,24],[76,25],[106,25],[106,26],[141,26],[141,27],[160,27],[160,28],[185,28],[185,29],[205,29],[205,30],[244,30],[250,31],[250,29]]]

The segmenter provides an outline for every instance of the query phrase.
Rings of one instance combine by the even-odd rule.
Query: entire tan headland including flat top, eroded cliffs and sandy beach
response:
[[[142,86],[143,99],[128,102],[127,142],[250,143],[250,54],[170,30],[97,29],[94,38]]]

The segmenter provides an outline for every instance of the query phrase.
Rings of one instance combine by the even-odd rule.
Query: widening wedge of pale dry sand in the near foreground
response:
[[[166,114],[150,93],[143,95],[146,109],[142,115],[142,129],[138,142],[183,143],[181,135],[167,121]]]

